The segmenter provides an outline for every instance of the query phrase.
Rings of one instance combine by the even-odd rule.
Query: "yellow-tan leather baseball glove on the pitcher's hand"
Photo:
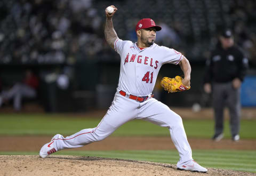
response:
[[[182,92],[190,89],[190,86],[185,86],[182,83],[182,77],[175,76],[175,78],[163,77],[161,80],[161,86],[164,87],[164,90],[168,93],[173,92]]]

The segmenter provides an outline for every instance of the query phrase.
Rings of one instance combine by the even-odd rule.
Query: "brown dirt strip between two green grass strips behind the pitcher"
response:
[[[0,151],[39,151],[51,137],[1,137]],[[256,140],[239,142],[224,139],[214,142],[211,139],[188,139],[192,149],[236,149],[256,150]],[[168,150],[174,149],[170,137],[108,137],[90,145],[72,150]]]

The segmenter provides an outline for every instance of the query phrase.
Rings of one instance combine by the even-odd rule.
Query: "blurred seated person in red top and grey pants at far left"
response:
[[[0,93],[0,107],[5,101],[13,99],[13,108],[21,109],[22,98],[35,98],[37,95],[38,78],[31,70],[26,70],[22,83],[15,83],[11,89]]]

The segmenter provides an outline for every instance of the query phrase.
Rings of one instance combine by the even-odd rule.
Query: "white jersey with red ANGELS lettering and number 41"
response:
[[[155,43],[141,50],[136,43],[117,38],[114,47],[121,57],[118,90],[137,96],[147,96],[153,91],[164,63],[177,65],[183,58],[180,52]]]

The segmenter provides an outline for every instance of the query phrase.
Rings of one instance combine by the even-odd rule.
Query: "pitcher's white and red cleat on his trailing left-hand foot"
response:
[[[41,158],[45,158],[46,156],[51,155],[51,154],[55,153],[56,151],[58,151],[58,149],[56,147],[54,147],[54,143],[56,142],[56,140],[54,140],[54,139],[58,139],[58,138],[61,138],[60,134],[54,135],[51,142],[45,143],[45,145],[39,151],[39,156]]]

